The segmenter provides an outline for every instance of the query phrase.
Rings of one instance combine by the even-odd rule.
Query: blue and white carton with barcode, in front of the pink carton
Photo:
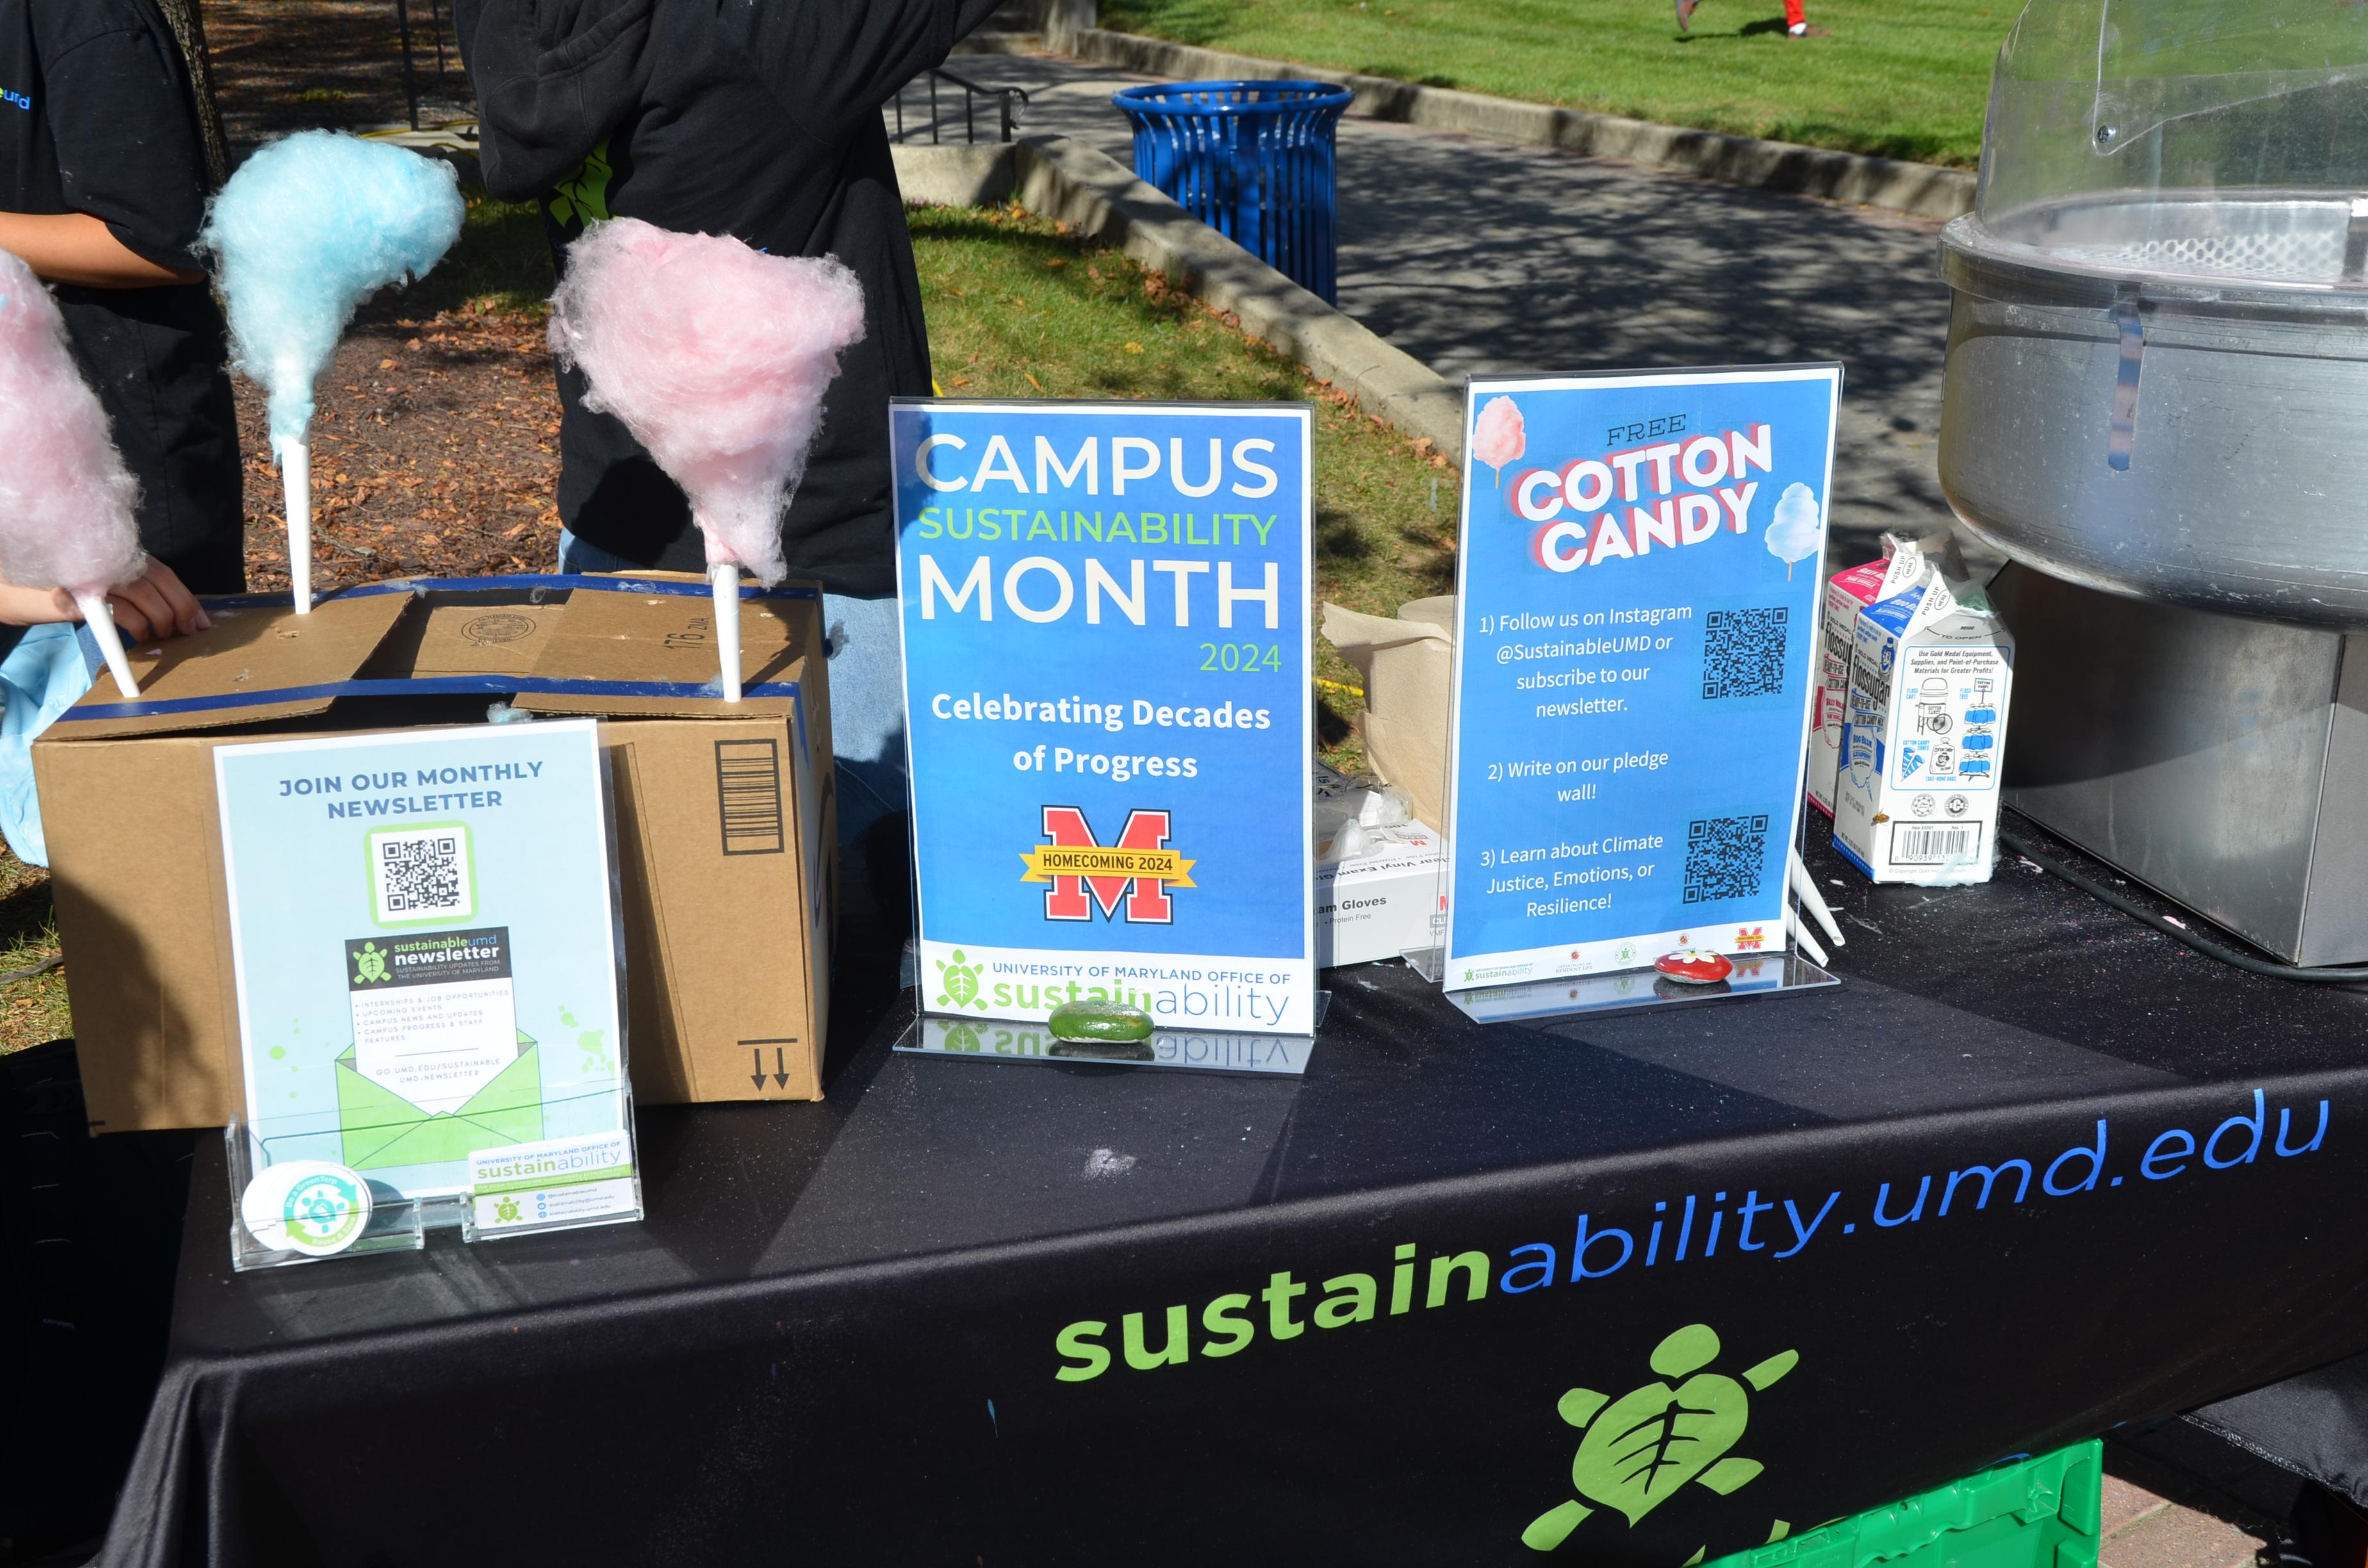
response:
[[[1980,587],[1904,561],[1859,611],[1833,843],[1875,881],[1989,881],[2015,644]]]

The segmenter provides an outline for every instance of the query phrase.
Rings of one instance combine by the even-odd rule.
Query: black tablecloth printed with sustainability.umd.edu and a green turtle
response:
[[[104,1561],[1677,1568],[2368,1350],[2368,997],[1812,865],[1838,990],[1345,969],[1305,1080],[855,988],[829,1101],[644,1111],[639,1227],[232,1277],[208,1151]]]

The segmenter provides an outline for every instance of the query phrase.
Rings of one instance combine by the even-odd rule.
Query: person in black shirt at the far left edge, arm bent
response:
[[[223,313],[197,256],[208,185],[154,0],[0,0],[0,249],[57,294],[140,481],[140,542],[220,595],[246,587],[246,528]]]

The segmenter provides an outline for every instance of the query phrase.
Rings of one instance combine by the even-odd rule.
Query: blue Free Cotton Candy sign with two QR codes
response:
[[[1785,945],[1840,391],[1471,384],[1449,990]]]

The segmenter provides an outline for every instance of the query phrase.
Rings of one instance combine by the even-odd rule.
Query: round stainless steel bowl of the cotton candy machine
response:
[[[1942,232],[1939,481],[2058,578],[2368,630],[2368,201],[2160,192]]]

